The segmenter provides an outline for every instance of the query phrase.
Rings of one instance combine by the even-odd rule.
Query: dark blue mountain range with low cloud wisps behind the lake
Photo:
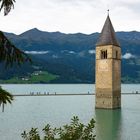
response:
[[[34,28],[20,35],[5,35],[16,47],[31,55],[34,63],[7,70],[3,70],[1,65],[1,79],[28,76],[34,71],[47,71],[59,76],[49,83],[95,82],[95,44],[99,33],[64,34]],[[138,83],[140,32],[117,32],[116,35],[122,48],[122,82]]]

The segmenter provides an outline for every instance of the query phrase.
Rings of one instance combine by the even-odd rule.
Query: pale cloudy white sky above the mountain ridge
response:
[[[8,16],[0,13],[0,30],[91,34],[101,32],[107,9],[115,31],[140,31],[140,0],[16,0]]]

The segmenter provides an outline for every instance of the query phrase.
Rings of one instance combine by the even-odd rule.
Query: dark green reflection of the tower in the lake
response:
[[[121,109],[95,110],[97,140],[121,139]]]

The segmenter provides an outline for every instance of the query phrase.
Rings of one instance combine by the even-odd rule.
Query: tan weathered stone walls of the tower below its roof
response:
[[[107,59],[101,59],[104,50],[107,50]],[[114,45],[96,47],[96,108],[120,107],[121,48]]]

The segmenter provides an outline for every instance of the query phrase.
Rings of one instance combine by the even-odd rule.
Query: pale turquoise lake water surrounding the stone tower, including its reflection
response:
[[[53,85],[2,85],[13,94],[30,92],[94,93],[91,84]],[[140,85],[122,85],[123,93],[140,93]],[[72,116],[79,116],[87,123],[96,120],[96,140],[140,139],[140,94],[122,95],[122,108],[100,110],[94,108],[95,96],[35,96],[15,97],[12,105],[0,112],[0,140],[22,140],[23,130],[31,127],[42,129],[47,123],[60,126],[69,123]]]

